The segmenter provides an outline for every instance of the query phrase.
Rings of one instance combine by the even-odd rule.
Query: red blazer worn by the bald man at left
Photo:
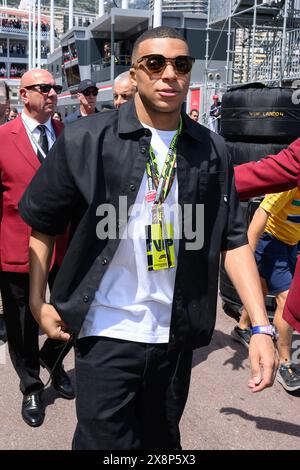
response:
[[[55,135],[63,124],[52,120]],[[41,166],[21,116],[0,127],[0,271],[29,272],[31,228],[21,219],[19,201]]]

